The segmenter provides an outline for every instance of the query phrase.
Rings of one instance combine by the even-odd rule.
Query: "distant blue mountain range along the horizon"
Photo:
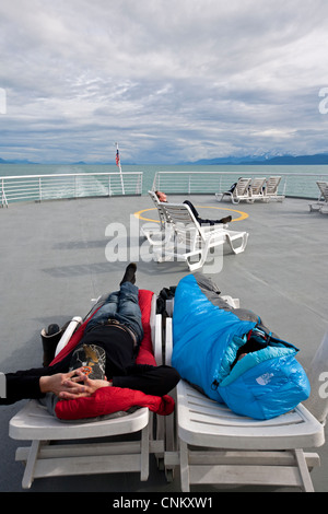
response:
[[[13,159],[7,161],[0,157],[0,164],[38,164],[33,163],[26,159]],[[83,161],[74,163],[56,163],[56,164],[110,164],[110,163],[85,163]],[[113,164],[113,163],[112,163]],[[132,163],[126,163],[132,164]],[[316,153],[314,155],[246,155],[242,157],[227,156],[227,157],[214,157],[214,159],[200,159],[199,161],[185,161],[177,164],[184,165],[221,165],[221,164],[233,164],[233,165],[315,165],[315,164],[328,164],[328,153]]]

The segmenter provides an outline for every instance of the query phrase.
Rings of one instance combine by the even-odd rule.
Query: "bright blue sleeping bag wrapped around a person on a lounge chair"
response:
[[[255,419],[274,418],[308,398],[309,382],[295,359],[298,350],[263,329],[258,316],[229,307],[207,280],[189,274],[176,289],[172,364],[181,378]],[[262,349],[233,365],[238,350],[258,335]]]

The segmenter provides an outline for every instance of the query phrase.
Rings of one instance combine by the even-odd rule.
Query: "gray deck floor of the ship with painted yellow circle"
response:
[[[238,206],[219,203],[213,196],[190,200],[201,207],[202,217],[231,213],[231,229],[249,232],[246,252],[224,255],[222,270],[210,276],[222,293],[239,297],[243,306],[300,348],[298,360],[307,367],[328,325],[328,217],[309,213],[308,201],[300,199]],[[142,196],[21,203],[0,210],[0,371],[42,365],[40,329],[86,314],[91,299],[117,289],[126,262],[138,260],[140,245],[147,253],[144,240],[130,230],[138,223],[133,213],[152,207]],[[141,215],[157,220],[154,209]],[[120,261],[107,260],[108,247],[106,257],[113,235],[118,237],[114,230],[119,231]],[[186,273],[183,262],[156,264],[139,257],[138,285],[155,293],[177,284]],[[8,435],[8,422],[21,407],[22,402],[0,407],[2,492],[22,490],[22,465],[14,460],[19,442]],[[324,492],[328,491],[327,445],[318,453],[321,467],[313,471],[313,481],[315,490]],[[133,474],[63,477],[35,480],[31,491],[179,491],[178,474],[167,483],[154,462],[151,466],[148,482]]]

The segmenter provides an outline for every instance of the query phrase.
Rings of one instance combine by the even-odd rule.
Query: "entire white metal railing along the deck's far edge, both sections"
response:
[[[328,182],[327,174],[239,172],[157,172],[152,188],[166,194],[214,195],[230,189],[241,173],[254,178],[279,175],[279,194],[288,197],[318,198],[317,180]],[[142,195],[143,173],[78,173],[54,175],[22,175],[0,177],[1,203],[8,207],[17,201]]]

